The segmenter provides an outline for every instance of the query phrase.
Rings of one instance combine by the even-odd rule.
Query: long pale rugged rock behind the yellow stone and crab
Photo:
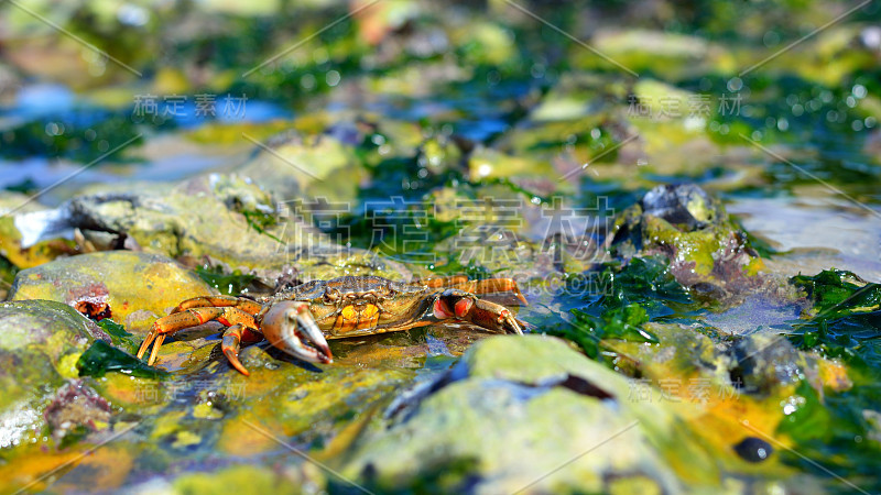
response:
[[[250,179],[236,175],[210,174],[171,188],[79,196],[53,211],[56,218],[44,223],[35,239],[76,231],[87,239],[112,234],[120,241],[116,248],[138,246],[187,265],[209,261],[264,280],[274,280],[290,265],[313,278],[409,273],[369,252],[334,244],[305,223],[295,208],[275,202]]]

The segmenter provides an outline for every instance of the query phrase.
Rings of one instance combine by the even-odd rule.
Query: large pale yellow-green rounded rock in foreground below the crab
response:
[[[634,475],[646,488],[681,490],[651,446],[701,464],[708,454],[674,433],[670,409],[628,402],[628,392],[623,376],[561,340],[486,339],[393,404],[388,425],[368,427],[342,473],[377,490],[412,490],[442,473],[444,490],[476,493],[605,491]],[[711,465],[690,469],[708,475],[698,484],[718,482]]]

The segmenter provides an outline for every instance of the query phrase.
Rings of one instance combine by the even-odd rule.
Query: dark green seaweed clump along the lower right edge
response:
[[[881,403],[881,285],[841,270],[798,275],[791,282],[805,292],[815,314],[794,322],[786,337],[803,350],[842,360],[853,386],[820,395],[802,383],[796,392],[801,405],[777,429],[796,442],[794,451],[801,455],[784,453],[785,460],[818,476],[834,472],[833,490],[856,485],[877,492],[881,444],[872,440],[879,425],[869,413]],[[853,485],[839,483],[842,479]]]

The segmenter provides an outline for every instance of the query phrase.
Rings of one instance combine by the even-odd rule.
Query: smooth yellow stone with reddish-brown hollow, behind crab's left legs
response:
[[[9,298],[64,302],[139,332],[182,300],[211,294],[197,275],[163,255],[107,251],[19,272]]]

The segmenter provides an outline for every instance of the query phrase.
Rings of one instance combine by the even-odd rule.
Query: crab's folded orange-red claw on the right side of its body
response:
[[[458,289],[444,290],[434,304],[438,319],[458,318],[488,330],[523,334],[516,318],[504,306]]]

